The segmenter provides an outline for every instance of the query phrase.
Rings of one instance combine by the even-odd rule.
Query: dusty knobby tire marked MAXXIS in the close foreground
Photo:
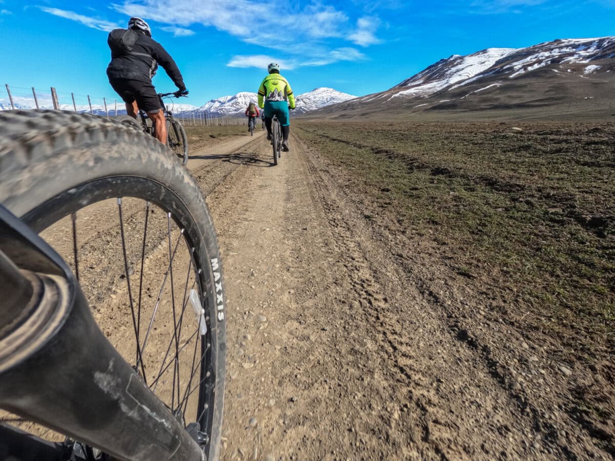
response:
[[[32,133],[36,133],[36,138]],[[188,250],[192,248],[188,275],[194,264],[194,286],[202,293],[199,297],[202,297],[207,326],[207,333],[200,339],[199,362],[195,364],[192,359],[192,372],[199,372],[198,389],[192,390],[198,390],[197,414],[188,415],[186,423],[198,419],[208,436],[205,453],[208,459],[218,459],[226,369],[224,285],[215,230],[199,185],[156,138],[136,132],[121,122],[90,114],[0,112],[0,153],[0,203],[36,232],[66,216],[76,216],[77,211],[92,204],[96,206],[102,200],[117,198],[121,203],[119,197],[153,203],[168,213],[169,226],[173,221],[181,229],[177,244],[183,238]],[[121,216],[120,209],[120,223]],[[170,235],[169,231],[169,248]],[[122,229],[122,244],[123,238]],[[170,266],[173,266],[172,259]],[[181,328],[181,320],[179,325]],[[178,334],[177,323],[175,331]],[[197,357],[197,341],[193,357]],[[179,385],[179,372],[177,380]],[[175,394],[175,388],[172,393]],[[181,404],[178,408],[181,409]],[[95,424],[95,410],[92,409],[92,424]]]

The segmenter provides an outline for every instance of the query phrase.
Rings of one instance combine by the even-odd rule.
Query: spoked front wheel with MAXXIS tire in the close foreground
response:
[[[0,203],[71,266],[109,342],[217,459],[224,283],[199,185],[152,136],[89,114],[0,112],[0,152]]]

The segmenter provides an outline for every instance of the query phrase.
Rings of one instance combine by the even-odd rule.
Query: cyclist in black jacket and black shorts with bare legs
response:
[[[185,96],[188,90],[173,58],[151,36],[148,23],[136,17],[130,18],[128,29],[111,31],[107,39],[111,49],[107,76],[113,89],[126,103],[127,114],[136,119],[139,109],[147,112],[156,129],[156,138],[166,144],[164,112],[152,85],[158,64],[178,87],[176,96]]]

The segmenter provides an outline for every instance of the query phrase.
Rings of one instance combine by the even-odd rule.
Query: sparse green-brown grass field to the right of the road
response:
[[[429,238],[535,328],[613,348],[615,125],[296,125],[367,196],[366,218]]]

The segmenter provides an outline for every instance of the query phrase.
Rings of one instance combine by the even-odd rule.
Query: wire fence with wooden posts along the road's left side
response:
[[[243,125],[243,114],[220,115],[205,112],[199,109],[184,109],[183,104],[171,101],[167,109],[173,112],[173,116],[179,119],[185,126],[208,126],[208,125]],[[99,98],[90,95],[78,95],[75,93],[58,92],[55,87],[49,90],[36,89],[34,87],[14,87],[5,84],[0,87],[0,110],[9,109],[54,109],[57,111],[89,112],[90,114],[106,116],[108,119],[126,114],[125,104],[116,97]]]

